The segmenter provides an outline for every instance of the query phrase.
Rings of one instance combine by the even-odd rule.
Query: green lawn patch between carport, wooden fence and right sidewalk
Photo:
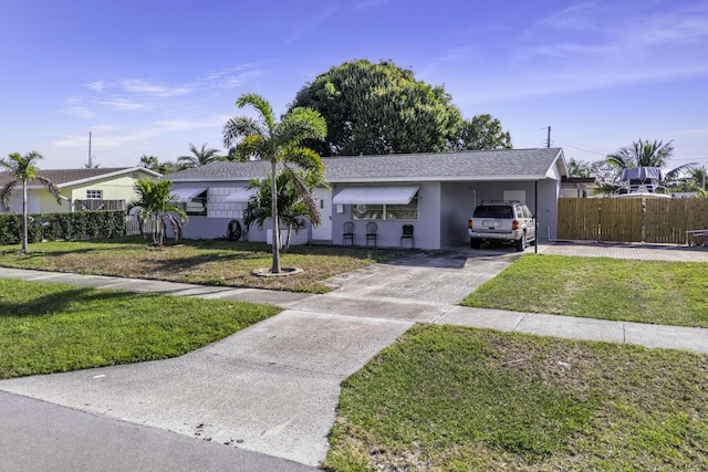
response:
[[[524,255],[464,305],[708,327],[708,264]]]

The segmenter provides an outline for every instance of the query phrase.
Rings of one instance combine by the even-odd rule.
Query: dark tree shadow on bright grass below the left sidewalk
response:
[[[31,287],[28,287],[31,290]],[[72,304],[85,305],[95,302],[121,300],[128,296],[137,296],[121,291],[96,291],[91,287],[66,289],[38,295],[27,302],[7,302],[0,295],[0,317],[40,317],[51,316],[58,313],[71,312]]]

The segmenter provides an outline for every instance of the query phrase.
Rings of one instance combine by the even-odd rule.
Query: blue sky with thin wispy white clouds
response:
[[[708,1],[2,0],[0,156],[40,168],[221,149],[242,93],[275,113],[319,74],[393,60],[514,147],[598,160],[638,138],[708,165]]]

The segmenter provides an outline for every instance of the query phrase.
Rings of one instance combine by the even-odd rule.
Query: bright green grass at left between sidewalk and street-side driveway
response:
[[[175,357],[279,311],[0,279],[0,378]]]

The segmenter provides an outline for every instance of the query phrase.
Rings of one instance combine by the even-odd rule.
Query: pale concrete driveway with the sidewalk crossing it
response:
[[[331,282],[340,289],[324,295],[0,269],[0,277],[263,302],[285,308],[179,358],[2,380],[0,391],[67,407],[75,413],[209,438],[210,447],[227,444],[226,449],[316,465],[326,454],[341,381],[417,322],[708,354],[708,329],[704,328],[455,305],[517,256],[483,251],[416,253],[395,264],[335,277]],[[195,441],[201,442],[206,441]],[[264,468],[269,470],[268,464]]]

